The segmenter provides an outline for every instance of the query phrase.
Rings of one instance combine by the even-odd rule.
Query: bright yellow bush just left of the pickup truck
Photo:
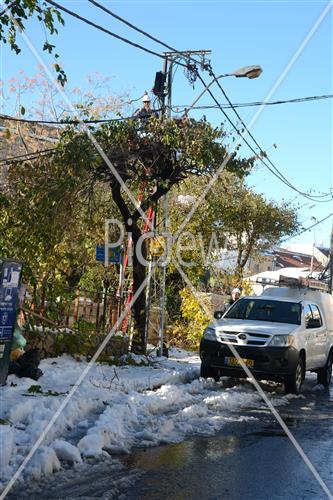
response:
[[[210,323],[211,318],[207,311],[209,302],[206,297],[196,297],[191,290],[184,288],[180,292],[181,319],[176,322],[171,334],[171,342],[189,349],[197,349],[203,331]],[[202,306],[205,305],[205,308]]]

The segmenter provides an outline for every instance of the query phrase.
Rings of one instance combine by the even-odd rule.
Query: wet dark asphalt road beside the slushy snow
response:
[[[314,391],[280,414],[333,491],[333,386]],[[114,461],[63,471],[8,498],[123,500],[327,498],[274,417],[262,406],[233,411],[214,436],[136,449]]]

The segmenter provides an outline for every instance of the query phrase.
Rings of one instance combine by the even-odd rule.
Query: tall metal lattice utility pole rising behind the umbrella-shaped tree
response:
[[[184,52],[164,52],[164,75],[166,78],[166,92],[162,98],[161,105],[161,120],[167,115],[171,118],[172,109],[172,80],[173,80],[173,64],[177,59],[185,59],[192,56],[200,56],[202,62],[205,56],[210,55],[210,50],[188,50]],[[200,64],[200,62],[198,62]],[[167,100],[167,112],[165,110],[165,94],[168,96]],[[168,232],[168,195],[164,196],[164,223],[163,230],[165,237],[167,237]],[[167,256],[165,256],[167,257]],[[166,300],[165,300],[165,284],[166,284],[166,261],[161,264],[161,283],[160,283],[160,325],[159,325],[159,348],[157,354],[159,356],[163,355],[163,345],[164,345],[164,328],[165,328],[165,311],[166,311]],[[149,314],[149,312],[148,312]]]

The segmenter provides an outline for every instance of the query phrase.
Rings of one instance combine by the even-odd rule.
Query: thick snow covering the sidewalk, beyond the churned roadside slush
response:
[[[94,365],[75,392],[23,473],[23,478],[38,478],[57,471],[61,462],[78,462],[78,448],[66,436],[89,425],[86,417],[103,412],[105,405],[131,391],[153,389],[166,383],[179,383],[198,376],[197,356],[177,351],[179,359],[165,359],[150,366]],[[133,362],[145,358],[133,357]],[[0,486],[15,473],[61,405],[87,362],[70,356],[42,361],[44,375],[34,382],[28,378],[8,377],[0,387]]]

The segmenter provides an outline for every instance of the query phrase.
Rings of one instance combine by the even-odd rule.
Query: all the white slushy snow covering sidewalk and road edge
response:
[[[191,434],[213,434],[232,412],[258,406],[247,381],[228,386],[199,378],[198,356],[173,349],[169,359],[132,357],[133,365],[96,364],[49,430],[23,471],[40,478],[88,458],[128,453],[135,446],[179,442]],[[135,366],[137,364],[137,366]],[[44,360],[38,382],[8,377],[0,388],[0,465],[4,486],[29,453],[87,362],[69,356]],[[274,404],[287,397],[270,394]]]

